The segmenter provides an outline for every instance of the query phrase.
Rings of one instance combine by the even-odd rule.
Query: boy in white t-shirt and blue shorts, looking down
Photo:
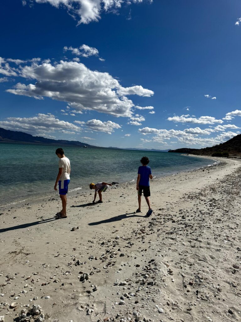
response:
[[[57,219],[67,218],[66,215],[66,205],[67,205],[67,197],[66,194],[68,193],[68,185],[70,182],[70,161],[64,155],[64,150],[59,147],[55,154],[58,156],[58,175],[55,182],[54,190],[57,189],[57,185],[59,188],[59,196],[62,200],[62,210],[56,214]]]

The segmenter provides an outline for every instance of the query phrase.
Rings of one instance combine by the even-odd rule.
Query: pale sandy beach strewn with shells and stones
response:
[[[155,178],[148,218],[135,182],[68,196],[61,220],[58,196],[0,207],[0,321],[239,321],[240,179],[222,158]]]

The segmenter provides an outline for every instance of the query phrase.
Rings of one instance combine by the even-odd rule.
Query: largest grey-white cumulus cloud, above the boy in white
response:
[[[2,67],[2,68],[1,68]],[[0,73],[6,76],[20,76],[33,83],[17,83],[7,92],[43,99],[65,101],[73,113],[95,110],[116,117],[132,117],[135,104],[125,95],[151,96],[152,90],[142,86],[124,88],[107,72],[91,71],[83,63],[60,61],[31,63],[18,69],[0,60]]]

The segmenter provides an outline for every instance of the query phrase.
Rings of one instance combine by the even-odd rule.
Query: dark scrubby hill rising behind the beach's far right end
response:
[[[176,153],[191,153],[196,155],[205,155],[209,156],[213,153],[218,152],[228,152],[229,155],[241,154],[241,134],[236,135],[230,140],[215,145],[213,147],[205,147],[202,149],[192,149],[192,148],[181,148],[176,150],[169,150],[168,152],[176,152]]]

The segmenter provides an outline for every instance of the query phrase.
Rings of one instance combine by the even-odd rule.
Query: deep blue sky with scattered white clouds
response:
[[[0,6],[0,127],[157,149],[241,133],[239,0]]]

